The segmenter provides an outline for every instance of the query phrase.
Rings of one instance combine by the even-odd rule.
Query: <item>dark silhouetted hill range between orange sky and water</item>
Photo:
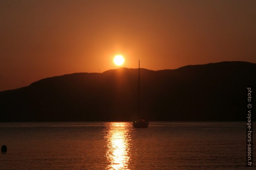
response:
[[[150,121],[243,121],[255,77],[256,64],[241,61],[141,69],[141,112]],[[0,92],[0,121],[131,121],[137,81],[132,68],[45,78]]]

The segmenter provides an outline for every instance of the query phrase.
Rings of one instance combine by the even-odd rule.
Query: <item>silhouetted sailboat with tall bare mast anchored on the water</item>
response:
[[[138,105],[137,119],[133,121],[133,128],[147,128],[148,120],[140,117],[140,60],[139,60],[139,76],[138,76]]]

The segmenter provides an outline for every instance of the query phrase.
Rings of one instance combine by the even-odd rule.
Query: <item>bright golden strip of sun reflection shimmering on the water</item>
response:
[[[106,157],[110,162],[108,170],[129,170],[129,125],[127,122],[109,124],[107,134]]]

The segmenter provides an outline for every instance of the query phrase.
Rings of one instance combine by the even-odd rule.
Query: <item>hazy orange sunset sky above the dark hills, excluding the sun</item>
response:
[[[255,0],[1,0],[0,91],[122,67],[256,63]]]

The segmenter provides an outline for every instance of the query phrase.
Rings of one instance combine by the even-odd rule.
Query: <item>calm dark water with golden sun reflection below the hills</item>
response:
[[[241,170],[245,138],[245,122],[0,123],[0,169]]]

